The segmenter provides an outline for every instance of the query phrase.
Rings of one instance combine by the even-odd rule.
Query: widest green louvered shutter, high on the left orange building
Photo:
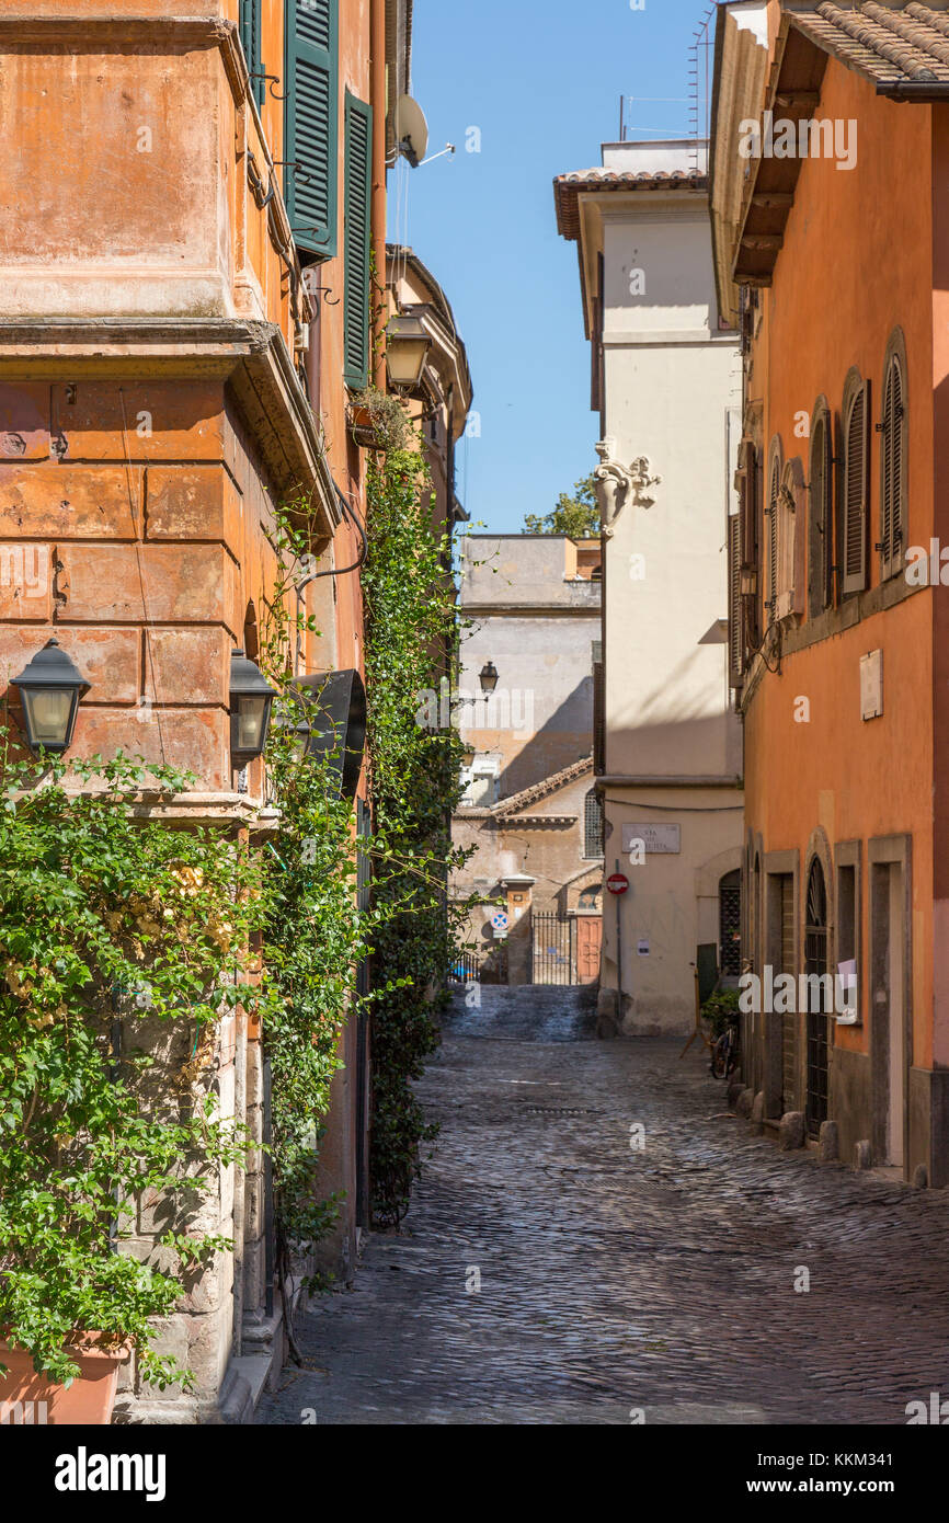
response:
[[[297,248],[337,251],[338,0],[286,6],[286,210]]]

